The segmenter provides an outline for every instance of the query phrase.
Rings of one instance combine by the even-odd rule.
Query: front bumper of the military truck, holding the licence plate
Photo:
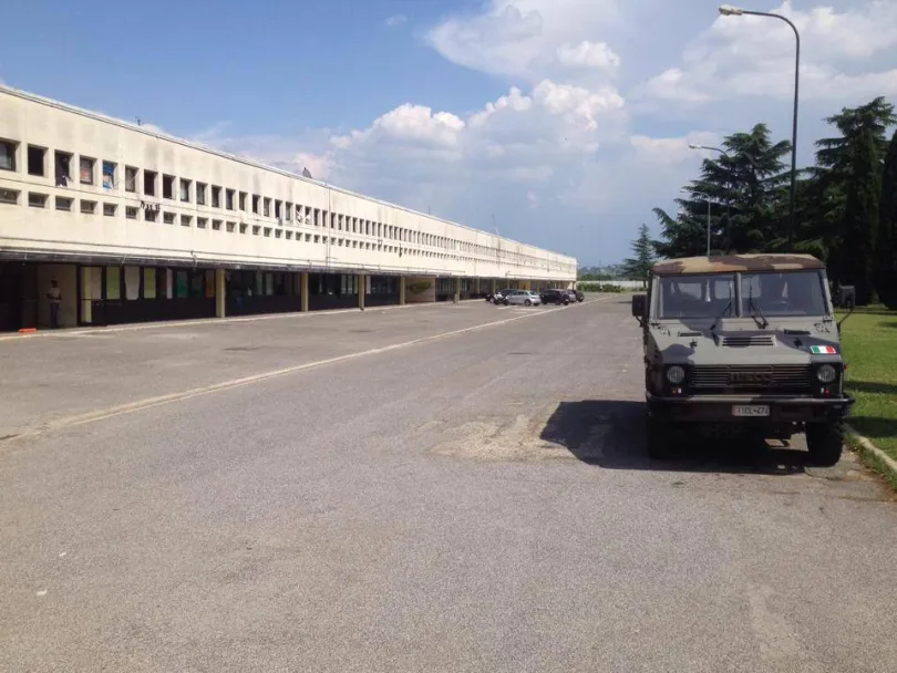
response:
[[[779,395],[670,397],[646,393],[646,397],[652,416],[682,423],[826,423],[848,416],[855,402],[850,395],[833,398]]]

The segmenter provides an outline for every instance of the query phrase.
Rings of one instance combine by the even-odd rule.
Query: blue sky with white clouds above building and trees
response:
[[[11,3],[11,7],[10,7]],[[689,148],[791,137],[795,40],[708,0],[6,0],[0,81],[614,263]],[[897,0],[752,0],[802,40],[798,164],[897,100]],[[12,29],[10,29],[12,27]]]

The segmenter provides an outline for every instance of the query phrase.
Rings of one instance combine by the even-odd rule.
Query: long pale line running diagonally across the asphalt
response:
[[[597,303],[600,301],[606,301],[609,297],[601,297],[598,299],[591,299],[589,301],[584,302],[585,304]],[[200,395],[209,395],[212,393],[217,393],[220,391],[227,391],[235,387],[240,387],[244,385],[251,385],[254,383],[260,383],[262,381],[268,381],[269,379],[278,379],[280,376],[287,376],[289,374],[295,374],[297,372],[302,372],[305,370],[316,369],[320,366],[326,366],[328,364],[337,364],[339,362],[347,362],[349,360],[355,360],[358,358],[365,358],[369,355],[379,355],[380,353],[388,353],[390,351],[395,351],[399,349],[409,348],[412,345],[417,345],[421,343],[427,343],[430,341],[437,341],[440,339],[447,339],[448,336],[457,336],[458,334],[466,334],[468,332],[475,332],[477,330],[484,330],[486,328],[493,328],[501,324],[506,324],[508,322],[514,322],[516,320],[526,320],[527,318],[535,318],[537,315],[548,315],[550,313],[555,313],[563,309],[555,308],[548,310],[534,310],[532,312],[527,311],[522,315],[514,315],[513,318],[504,318],[502,320],[494,320],[492,322],[484,322],[483,324],[476,324],[470,328],[462,328],[460,330],[452,330],[451,332],[443,332],[442,334],[432,334],[430,336],[421,336],[420,339],[412,339],[411,341],[403,341],[401,343],[393,343],[390,345],[379,346],[375,349],[369,349],[367,351],[358,351],[355,353],[347,353],[346,355],[338,355],[336,358],[326,358],[324,360],[316,360],[315,362],[306,362],[302,364],[297,364],[293,366],[288,366],[279,370],[274,370],[270,372],[264,372],[261,374],[252,374],[251,376],[243,376],[240,379],[231,379],[230,381],[221,381],[220,383],[213,383],[212,385],[205,385],[202,387],[195,387],[187,391],[182,391],[179,393],[168,393],[167,395],[157,395],[155,397],[147,397],[145,400],[138,400],[136,402],[130,402],[127,404],[121,404],[117,406],[106,407],[104,410],[97,410],[94,412],[87,412],[84,414],[76,414],[73,416],[65,416],[62,418],[58,418],[55,421],[51,421],[49,423],[42,424],[39,427],[27,428],[21,431],[17,435],[12,435],[6,437],[6,442],[14,442],[16,439],[20,439],[22,437],[34,437],[37,435],[41,435],[45,432],[50,432],[53,429],[62,429],[65,427],[74,427],[78,425],[84,425],[86,423],[94,423],[96,421],[103,421],[105,418],[112,418],[114,416],[121,416],[124,414],[131,414],[134,412],[153,408],[155,406],[162,406],[164,404],[171,404],[172,402],[179,402],[182,400],[189,400],[192,397],[198,397]]]

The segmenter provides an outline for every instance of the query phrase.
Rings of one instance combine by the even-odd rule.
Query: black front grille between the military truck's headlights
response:
[[[703,392],[795,392],[810,383],[805,364],[697,365],[690,379],[691,387]]]

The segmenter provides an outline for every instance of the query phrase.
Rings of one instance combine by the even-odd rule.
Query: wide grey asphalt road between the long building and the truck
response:
[[[640,361],[617,297],[0,342],[0,671],[897,670],[890,491],[651,463]]]

